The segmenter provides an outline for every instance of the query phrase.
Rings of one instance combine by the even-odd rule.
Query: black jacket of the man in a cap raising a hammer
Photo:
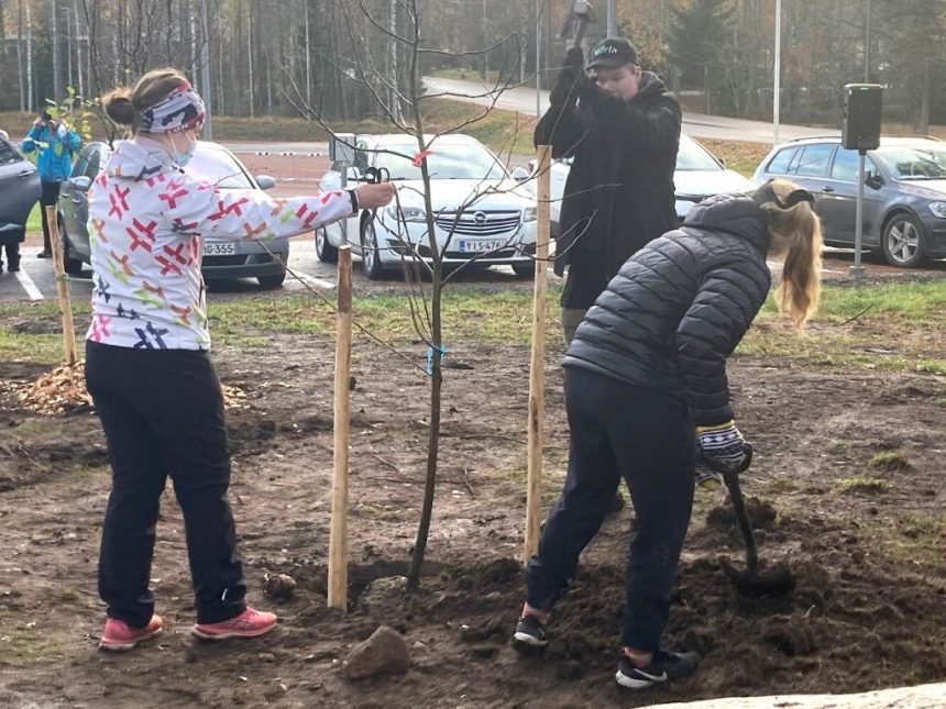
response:
[[[645,71],[637,96],[622,101],[579,77],[574,100],[551,106],[536,126],[536,145],[574,156],[561,206],[556,273],[570,262],[595,264],[601,286],[646,243],[676,226],[673,169],[680,106],[656,74]],[[588,223],[591,221],[591,224]],[[579,253],[585,258],[579,258]],[[574,258],[573,258],[574,256]],[[586,303],[562,302],[586,308]]]

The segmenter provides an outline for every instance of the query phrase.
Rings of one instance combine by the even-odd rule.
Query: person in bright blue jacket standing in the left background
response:
[[[43,212],[43,251],[40,258],[50,258],[53,246],[50,242],[50,225],[46,223],[46,207],[55,206],[59,197],[59,185],[73,174],[73,155],[79,152],[82,139],[62,121],[56,121],[48,111],[43,111],[33,121],[33,128],[21,144],[23,153],[37,153],[36,167],[43,195],[40,206]]]

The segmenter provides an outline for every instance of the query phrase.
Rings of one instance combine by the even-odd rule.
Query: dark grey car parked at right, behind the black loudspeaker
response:
[[[857,163],[857,151],[842,148],[839,137],[806,137],[772,148],[752,179],[782,177],[811,191],[825,243],[851,246]],[[905,268],[946,256],[946,143],[882,137],[867,153],[865,174],[864,247]]]

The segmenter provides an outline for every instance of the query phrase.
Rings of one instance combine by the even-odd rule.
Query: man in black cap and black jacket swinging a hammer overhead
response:
[[[581,49],[569,51],[535,133],[552,157],[574,157],[556,246],[556,273],[569,266],[566,343],[620,265],[678,223],[680,106],[657,75],[641,71],[627,40],[604,40],[582,63]]]

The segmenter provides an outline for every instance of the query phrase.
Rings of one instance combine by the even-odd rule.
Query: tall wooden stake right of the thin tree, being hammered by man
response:
[[[552,148],[539,145],[536,157],[539,174],[538,222],[536,224],[536,285],[532,296],[532,356],[529,363],[529,431],[526,489],[526,543],[522,561],[528,563],[539,549],[539,512],[542,501],[542,445],[546,410],[546,274],[549,268],[551,184],[549,173]]]

